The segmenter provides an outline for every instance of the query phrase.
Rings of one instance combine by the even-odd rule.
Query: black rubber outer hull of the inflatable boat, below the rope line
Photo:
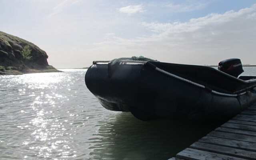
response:
[[[132,112],[141,120],[227,120],[256,101],[252,88],[237,96],[214,94],[210,88],[157,72],[150,62],[94,64],[85,82],[104,108]]]

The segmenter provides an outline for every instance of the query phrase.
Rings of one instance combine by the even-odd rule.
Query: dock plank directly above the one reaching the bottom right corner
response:
[[[216,137],[203,137],[198,142],[204,142],[208,144],[215,144],[219,146],[226,146],[230,148],[238,148],[241,150],[249,150],[252,152],[256,152],[256,143],[252,142],[244,142],[239,140],[229,140],[224,138],[216,138]]]

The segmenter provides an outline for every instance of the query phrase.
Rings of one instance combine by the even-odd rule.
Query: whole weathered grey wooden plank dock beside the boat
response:
[[[169,160],[256,160],[256,104]]]

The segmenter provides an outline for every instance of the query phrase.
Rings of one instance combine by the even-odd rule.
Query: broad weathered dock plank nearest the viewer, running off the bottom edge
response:
[[[245,160],[243,158],[226,156],[222,154],[206,152],[192,148],[186,148],[185,150],[178,153],[176,157],[182,158],[184,160]]]

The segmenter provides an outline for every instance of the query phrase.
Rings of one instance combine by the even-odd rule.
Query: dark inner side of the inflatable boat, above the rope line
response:
[[[240,76],[236,78],[208,66],[152,61],[149,63],[176,76],[227,94],[239,94],[256,86],[256,76]]]

